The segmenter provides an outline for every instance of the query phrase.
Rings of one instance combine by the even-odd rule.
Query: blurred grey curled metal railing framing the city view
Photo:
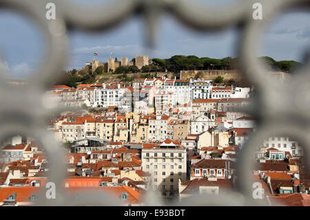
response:
[[[54,3],[56,19],[46,18],[46,5]],[[254,3],[262,4],[262,19],[253,18]],[[71,28],[83,31],[105,30],[126,21],[134,14],[141,14],[145,21],[147,46],[156,40],[156,23],[163,11],[174,15],[189,28],[201,31],[223,30],[236,27],[240,32],[238,57],[240,72],[257,92],[251,106],[242,109],[256,117],[258,132],[255,132],[242,148],[237,160],[237,192],[227,195],[193,197],[189,206],[248,206],[269,205],[265,199],[253,199],[250,172],[253,170],[255,146],[273,134],[286,134],[298,139],[304,146],[306,163],[310,153],[310,103],[300,104],[307,95],[310,83],[310,63],[294,74],[291,81],[279,83],[266,78],[265,68],[258,62],[256,52],[263,30],[273,17],[287,10],[308,8],[308,0],[262,0],[236,1],[223,8],[210,8],[194,0],[114,0],[106,5],[86,6],[69,0],[1,0],[0,8],[10,8],[28,15],[37,23],[45,36],[45,55],[41,65],[29,77],[28,85],[10,88],[0,72],[0,141],[10,134],[25,134],[41,142],[48,152],[50,176],[48,181],[61,186],[65,178],[64,155],[54,141],[54,136],[45,131],[45,120],[52,114],[63,111],[46,103],[44,92],[50,82],[59,77],[68,61],[68,37]],[[307,99],[304,99],[307,100]],[[103,197],[105,199],[103,199]],[[91,197],[81,194],[70,199],[62,188],[57,188],[56,199],[46,199],[45,192],[36,205],[117,205],[112,198],[94,192]],[[149,194],[146,205],[161,205],[155,194]],[[172,204],[173,205],[173,204]],[[178,204],[180,205],[180,204]]]

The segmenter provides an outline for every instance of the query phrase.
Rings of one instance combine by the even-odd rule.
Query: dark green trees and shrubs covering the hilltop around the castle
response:
[[[259,57],[264,61],[266,66],[273,71],[293,72],[302,63],[296,61],[275,61],[271,57]],[[118,74],[118,81],[133,81],[135,77],[147,77],[149,72],[180,72],[180,70],[236,70],[237,58],[225,57],[222,59],[214,59],[209,57],[183,56],[175,55],[169,59],[151,59],[147,66],[143,66],[139,70],[136,66],[120,66],[114,72],[103,72],[103,66],[96,68],[92,72],[92,67],[87,66],[79,70],[73,69],[64,71],[61,79],[54,84],[63,84],[76,88],[79,83],[104,83],[111,79],[111,75]],[[135,74],[134,76],[132,74]],[[127,75],[130,74],[131,76]],[[113,77],[114,78],[114,77]],[[115,79],[115,78],[114,78]]]

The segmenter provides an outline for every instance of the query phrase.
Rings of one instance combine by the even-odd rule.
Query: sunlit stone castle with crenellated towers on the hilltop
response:
[[[128,57],[122,57],[121,61],[117,61],[114,58],[109,58],[106,63],[99,63],[98,60],[93,60],[92,63],[85,63],[85,66],[92,65],[92,72],[96,70],[99,66],[103,66],[104,72],[109,72],[109,70],[115,70],[119,66],[134,66],[136,65],[139,69],[143,66],[149,65],[149,57],[146,55],[136,56],[134,61],[128,61]]]

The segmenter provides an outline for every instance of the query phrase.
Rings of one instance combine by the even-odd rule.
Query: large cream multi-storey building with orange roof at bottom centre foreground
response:
[[[163,197],[178,194],[178,182],[186,180],[186,155],[185,148],[170,139],[157,146],[143,144],[142,170],[152,174],[150,184],[153,190],[161,192]]]

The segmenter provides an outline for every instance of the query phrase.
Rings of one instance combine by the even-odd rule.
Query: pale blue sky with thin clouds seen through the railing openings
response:
[[[85,3],[86,0],[75,0]],[[87,3],[99,0],[88,0]],[[107,1],[107,0],[106,0]],[[200,0],[210,3],[211,0]],[[234,0],[212,1],[214,6]],[[310,15],[307,12],[291,12],[278,17],[267,28],[262,42],[262,54],[277,61],[302,61],[305,48],[310,48]],[[145,29],[141,17],[131,17],[121,26],[90,34],[74,30],[68,33],[70,40],[70,62],[67,70],[81,68],[85,62],[96,59],[107,61],[110,50],[112,57],[128,57],[147,54],[149,58],[169,58],[176,54],[198,57],[234,57],[238,32],[233,28],[222,32],[196,32],[165,14],[158,20],[155,48],[145,48]],[[27,17],[16,12],[0,10],[0,68],[10,71],[10,78],[25,79],[40,62],[44,52],[44,40],[37,26]]]

